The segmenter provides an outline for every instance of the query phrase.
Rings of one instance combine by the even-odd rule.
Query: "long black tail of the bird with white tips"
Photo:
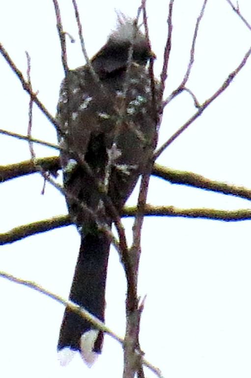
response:
[[[69,298],[104,321],[105,286],[110,241],[106,234],[87,234],[81,242]],[[103,332],[80,315],[66,309],[57,349],[79,350],[87,365],[101,352]]]

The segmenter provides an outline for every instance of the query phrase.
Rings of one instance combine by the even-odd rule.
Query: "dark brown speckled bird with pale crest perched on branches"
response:
[[[118,17],[105,45],[88,63],[69,70],[60,86],[56,120],[64,193],[81,239],[69,298],[101,321],[114,211],[122,214],[156,146],[147,69],[155,58],[135,20]],[[91,366],[103,337],[66,308],[57,349],[79,351]]]

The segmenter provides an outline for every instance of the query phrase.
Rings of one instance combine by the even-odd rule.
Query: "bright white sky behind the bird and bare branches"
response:
[[[202,0],[174,1],[173,48],[167,94],[183,78],[189,60],[195,20]],[[59,1],[64,30],[78,39],[71,1]],[[114,28],[114,8],[134,16],[138,2],[84,1],[79,8],[91,57]],[[167,36],[166,0],[148,0],[152,47],[162,64]],[[251,23],[250,0],[239,0]],[[52,114],[63,78],[53,2],[0,2],[0,40],[26,73],[25,50],[31,56],[33,89]],[[188,87],[203,102],[242,60],[251,32],[225,0],[208,0],[195,50]],[[71,68],[84,63],[78,43],[68,43]],[[231,86],[211,104],[160,157],[167,166],[251,187],[251,59]],[[1,128],[27,133],[28,96],[0,57]],[[164,141],[193,113],[188,94],[168,105],[160,140]],[[52,125],[34,106],[34,137],[56,143]],[[54,151],[35,146],[36,156]],[[28,144],[0,136],[0,164],[29,158]],[[63,197],[51,186],[42,196],[36,174],[0,186],[0,232],[30,221],[66,213]],[[134,197],[135,199],[135,197]],[[131,199],[130,202],[133,203]],[[248,201],[152,180],[148,202],[179,207],[250,208]],[[124,221],[131,237],[132,221]],[[251,222],[146,219],[144,222],[139,295],[146,295],[141,347],[165,377],[251,377]],[[29,237],[1,247],[0,270],[33,280],[67,297],[78,254],[74,226]],[[107,283],[106,322],[124,332],[125,279],[112,250]],[[56,356],[63,307],[42,294],[0,278],[0,366],[8,377],[121,376],[122,349],[108,336],[92,369],[79,355],[67,367]],[[147,372],[147,377],[152,377]]]

